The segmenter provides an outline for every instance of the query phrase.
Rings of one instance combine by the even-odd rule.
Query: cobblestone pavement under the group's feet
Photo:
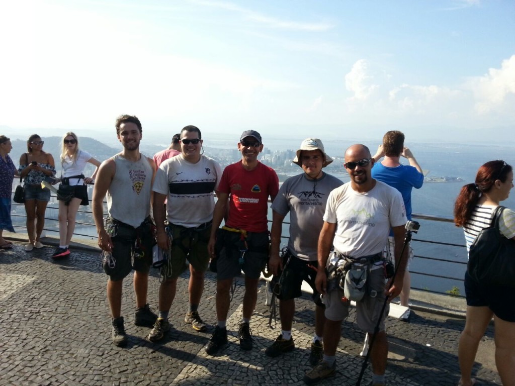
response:
[[[254,349],[239,348],[242,282],[238,282],[228,319],[229,345],[220,356],[204,353],[212,328],[195,332],[184,323],[187,274],[178,282],[170,311],[173,329],[159,344],[145,339],[149,329],[132,323],[132,277],[124,282],[122,314],[129,334],[126,348],[111,343],[106,275],[98,253],[72,251],[52,261],[54,247],[25,252],[24,245],[0,251],[0,385],[301,385],[308,364],[314,313],[306,297],[297,302],[296,349],[279,358],[264,350],[280,332],[268,326],[264,293],[251,321]],[[159,276],[152,271],[148,300],[157,308]],[[264,290],[263,290],[264,291]],[[215,276],[207,274],[200,315],[211,324],[215,316]],[[273,325],[273,323],[272,323]],[[388,319],[389,385],[456,385],[457,343],[464,321],[416,311],[410,323]],[[354,311],[342,326],[337,372],[321,384],[355,385],[363,358],[364,334]],[[501,384],[493,363],[493,329],[480,345],[474,376],[482,385]],[[369,385],[370,367],[361,384]]]

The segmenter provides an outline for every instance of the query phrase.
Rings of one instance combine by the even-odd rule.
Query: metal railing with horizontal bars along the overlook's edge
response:
[[[54,198],[55,196],[52,196]],[[104,202],[105,203],[105,202]],[[23,208],[23,204],[16,204],[12,202],[14,207],[19,206]],[[79,207],[77,212],[77,216],[79,218],[87,217],[89,221],[78,220],[76,221],[76,229],[87,229],[88,232],[76,232],[74,236],[79,238],[87,238],[87,239],[96,239],[96,227],[93,221],[93,215],[91,210],[88,210],[90,206],[82,206]],[[53,202],[52,200],[48,203],[47,212],[50,209],[54,213],[55,216],[48,217],[45,216],[45,227],[44,231],[55,233],[59,236],[59,223],[57,214],[59,211],[59,204],[57,200]],[[25,210],[23,210],[23,214],[21,214],[22,210],[14,210],[14,213],[11,213],[11,218],[13,218],[13,226],[15,229],[26,229],[25,224],[19,224],[19,221],[14,221],[14,218],[26,218]],[[105,210],[107,213],[107,210]],[[427,238],[422,235],[426,235],[426,232],[423,232],[424,226],[422,222],[430,222],[433,224],[446,224],[447,226],[452,226],[451,229],[455,229],[453,225],[452,218],[445,218],[441,216],[433,216],[433,215],[422,215],[422,214],[413,214],[413,219],[420,220],[421,222],[421,231],[419,234],[413,235],[413,240],[411,244],[413,245],[413,249],[415,250],[415,259],[410,265],[409,272],[411,274],[411,289],[437,293],[442,295],[449,296],[457,296],[457,297],[465,297],[464,296],[464,273],[467,265],[467,251],[464,243],[455,243],[455,242],[446,242],[442,240],[436,240]],[[16,225],[15,223],[18,222]],[[271,222],[269,220],[269,222]],[[55,226],[52,226],[54,224]],[[283,229],[288,229],[289,222],[284,222]],[[91,229],[91,231],[89,231]],[[457,229],[456,229],[457,230]],[[447,231],[445,231],[447,233]],[[461,230],[457,230],[461,234]],[[287,234],[283,232],[282,238],[287,241],[288,236],[284,236]],[[438,235],[433,235],[438,237]],[[454,236],[456,238],[456,235]],[[76,238],[74,241],[78,241]],[[286,244],[286,242],[284,242]],[[417,251],[421,250],[421,253]],[[459,251],[459,253],[455,253]],[[456,258],[459,255],[462,255],[461,259]],[[455,258],[452,258],[452,257]],[[428,268],[429,267],[429,268]],[[436,285],[435,282],[439,281],[440,284]],[[414,285],[415,283],[415,285]],[[424,283],[426,283],[424,285]]]

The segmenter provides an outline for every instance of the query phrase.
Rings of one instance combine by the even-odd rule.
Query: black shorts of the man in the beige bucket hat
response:
[[[272,278],[272,289],[276,288],[274,292],[276,292],[277,299],[289,300],[302,296],[301,287],[304,281],[313,289],[313,302],[318,306],[323,306],[320,293],[315,286],[318,261],[302,260],[288,251],[283,255],[283,267],[280,275]]]

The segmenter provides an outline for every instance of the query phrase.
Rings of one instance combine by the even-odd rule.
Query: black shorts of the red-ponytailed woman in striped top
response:
[[[515,322],[515,288],[484,285],[476,282],[469,271],[465,272],[467,306],[488,307],[497,318]]]

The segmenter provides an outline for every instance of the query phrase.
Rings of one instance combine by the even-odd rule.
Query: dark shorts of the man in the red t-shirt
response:
[[[219,229],[216,237],[217,280],[232,279],[245,272],[245,276],[257,279],[268,261],[268,232],[247,233],[247,244],[243,244],[239,233]],[[248,248],[240,263],[241,249]]]

